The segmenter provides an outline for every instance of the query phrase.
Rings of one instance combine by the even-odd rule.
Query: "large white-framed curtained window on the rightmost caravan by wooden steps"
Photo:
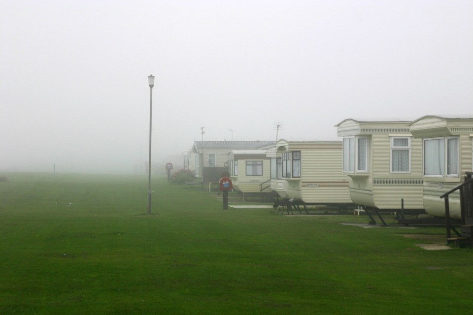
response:
[[[458,137],[424,139],[424,176],[458,176]]]

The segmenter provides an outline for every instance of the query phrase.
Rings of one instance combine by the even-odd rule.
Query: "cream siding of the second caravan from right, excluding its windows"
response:
[[[339,136],[368,137],[368,173],[344,173],[350,177],[354,203],[378,209],[423,209],[422,140],[409,133],[410,122],[356,122],[338,125]],[[350,134],[347,130],[351,130]],[[410,137],[410,173],[391,173],[391,138]]]

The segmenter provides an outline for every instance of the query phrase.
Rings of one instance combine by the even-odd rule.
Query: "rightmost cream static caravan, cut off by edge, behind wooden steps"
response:
[[[444,217],[440,195],[463,182],[472,171],[473,116],[423,116],[410,124],[412,135],[422,141],[423,200],[432,216]],[[460,194],[450,195],[450,217],[461,219]]]

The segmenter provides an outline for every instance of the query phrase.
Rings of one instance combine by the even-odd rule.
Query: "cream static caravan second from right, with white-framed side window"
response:
[[[343,174],[351,200],[378,210],[423,211],[422,141],[408,119],[346,119],[336,125],[343,138]]]

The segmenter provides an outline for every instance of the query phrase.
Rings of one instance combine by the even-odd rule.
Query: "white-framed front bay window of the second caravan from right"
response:
[[[368,137],[343,138],[343,172],[355,171],[368,172]]]

